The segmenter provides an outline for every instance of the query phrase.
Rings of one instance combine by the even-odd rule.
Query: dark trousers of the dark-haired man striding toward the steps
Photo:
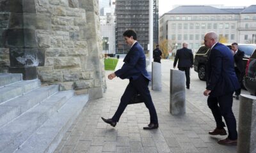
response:
[[[147,80],[147,78],[145,78],[143,75],[141,75],[136,80],[130,80],[121,98],[121,102],[115,112],[115,115],[112,117],[113,121],[118,122],[126,106],[131,100],[131,97],[134,94],[139,93],[141,95],[141,99],[144,101],[145,105],[149,110],[150,123],[158,124],[156,108],[153,104],[150,91],[148,90],[148,82],[149,81]]]

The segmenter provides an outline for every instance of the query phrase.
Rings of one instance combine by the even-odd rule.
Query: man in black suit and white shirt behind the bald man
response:
[[[245,75],[244,62],[243,62],[244,52],[238,49],[237,43],[232,43],[231,49],[234,54],[234,61],[235,61],[234,65],[235,65],[236,76],[238,78],[240,85],[242,85],[243,77]],[[236,90],[235,95],[233,97],[238,100],[240,94],[241,94],[241,88]]]

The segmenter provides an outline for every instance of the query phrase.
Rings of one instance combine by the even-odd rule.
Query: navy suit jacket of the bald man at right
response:
[[[234,57],[230,49],[216,43],[207,61],[207,87],[213,97],[223,96],[240,88],[234,70]]]

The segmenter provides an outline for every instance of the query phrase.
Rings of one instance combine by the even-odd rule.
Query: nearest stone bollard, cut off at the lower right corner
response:
[[[241,94],[237,153],[256,152],[256,96]]]

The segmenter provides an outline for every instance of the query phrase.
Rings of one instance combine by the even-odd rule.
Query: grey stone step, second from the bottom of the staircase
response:
[[[13,152],[56,113],[74,91],[58,92],[0,128],[0,152]]]

